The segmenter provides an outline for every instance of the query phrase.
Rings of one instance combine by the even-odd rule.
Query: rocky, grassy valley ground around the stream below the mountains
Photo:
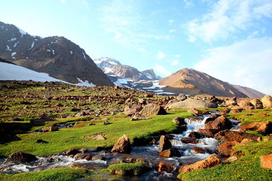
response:
[[[200,175],[207,180],[221,180],[222,176],[218,175],[227,174],[224,170],[234,172],[234,167],[239,170],[242,166],[249,170],[241,171],[240,180],[259,180],[261,177],[251,173],[254,169],[263,173],[261,179],[270,180],[271,107],[272,98],[268,95],[260,99],[211,95],[176,97],[118,86],[79,87],[58,82],[1,81],[0,156],[9,156],[5,162],[29,162],[37,159],[36,156],[48,155],[51,159],[50,156],[56,154],[96,160],[102,158],[85,153],[88,149],[80,148],[129,153],[132,145],[158,142],[160,157],[180,157],[180,152],[171,144],[173,136],[166,134],[185,131],[185,117],[218,110],[220,112],[206,120],[205,129],[191,132],[189,139],[182,140],[183,143],[195,144],[200,138],[215,138],[220,143],[215,152],[217,156],[211,155],[206,160],[183,165],[179,171],[164,162],[152,169],[159,173],[179,172],[180,180],[199,180]],[[230,130],[229,119],[240,120],[242,125]],[[62,128],[66,129],[59,131]],[[43,145],[37,149],[37,144]],[[203,150],[199,148],[195,151]],[[249,160],[252,164],[244,166]],[[107,172],[138,176],[144,170],[148,171],[147,165],[138,162],[144,160],[123,160],[120,162],[123,165],[113,165]],[[229,165],[232,167],[229,168]],[[87,176],[83,174],[81,177]],[[7,176],[0,175],[0,178]],[[235,180],[236,175],[230,178]]]

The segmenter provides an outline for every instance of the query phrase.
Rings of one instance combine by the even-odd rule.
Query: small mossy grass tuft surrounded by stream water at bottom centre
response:
[[[150,168],[145,163],[120,163],[113,164],[108,167],[108,171],[123,175],[123,176],[139,176],[150,171]]]

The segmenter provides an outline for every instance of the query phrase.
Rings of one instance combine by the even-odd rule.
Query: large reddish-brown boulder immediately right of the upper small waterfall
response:
[[[230,128],[231,128],[231,122],[224,115],[216,118],[214,121],[210,121],[207,124],[205,124],[205,129],[210,129],[210,130],[221,131],[221,130],[226,130]]]

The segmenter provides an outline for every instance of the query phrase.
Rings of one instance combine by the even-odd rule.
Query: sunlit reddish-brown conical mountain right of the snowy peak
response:
[[[164,91],[191,96],[210,94],[225,97],[247,97],[247,95],[241,93],[227,82],[223,82],[206,73],[187,68],[161,79],[159,85],[166,85],[166,87],[162,88]]]

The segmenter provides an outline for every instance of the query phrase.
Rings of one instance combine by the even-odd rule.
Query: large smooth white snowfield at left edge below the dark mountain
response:
[[[3,62],[0,62],[0,80],[33,80],[39,82],[54,81],[68,83],[50,77],[47,73],[35,72],[24,67]]]

